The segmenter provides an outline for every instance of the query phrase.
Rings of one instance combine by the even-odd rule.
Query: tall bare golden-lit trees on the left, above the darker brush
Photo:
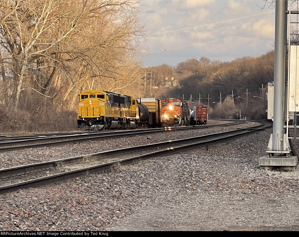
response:
[[[60,95],[65,101],[71,91],[76,94],[91,84],[99,87],[106,79],[114,81],[110,85],[115,88],[132,84],[117,82],[134,75],[123,65],[130,65],[127,60],[138,53],[138,38],[142,36],[138,2],[3,2],[1,75],[3,80],[6,74],[12,79],[10,94],[16,99],[16,108],[21,91],[26,89],[47,97]]]

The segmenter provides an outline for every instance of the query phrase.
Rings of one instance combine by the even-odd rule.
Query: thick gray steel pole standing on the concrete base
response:
[[[286,61],[286,0],[275,1],[275,45],[274,45],[274,113],[272,150],[283,150],[284,124],[284,76]]]

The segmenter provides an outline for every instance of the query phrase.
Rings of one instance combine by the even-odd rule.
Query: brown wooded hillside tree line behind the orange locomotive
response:
[[[155,90],[158,97],[184,99],[190,107],[209,105],[210,115],[214,118],[235,119],[241,110],[244,115],[241,118],[267,119],[266,88],[268,82],[274,80],[274,51],[231,62],[193,58],[175,67],[164,64],[148,70],[154,72],[152,80],[156,85],[165,77],[179,80],[178,87]]]

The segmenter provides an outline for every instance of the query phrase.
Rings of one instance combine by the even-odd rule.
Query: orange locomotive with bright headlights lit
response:
[[[190,124],[189,105],[175,98],[162,100],[161,124],[163,127],[188,126]]]

